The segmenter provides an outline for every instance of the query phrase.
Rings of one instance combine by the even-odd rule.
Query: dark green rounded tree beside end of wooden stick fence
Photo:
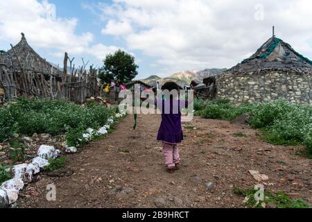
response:
[[[135,57],[125,51],[116,51],[109,54],[103,60],[104,65],[99,69],[98,78],[103,83],[128,83],[137,76],[138,65],[135,64]]]

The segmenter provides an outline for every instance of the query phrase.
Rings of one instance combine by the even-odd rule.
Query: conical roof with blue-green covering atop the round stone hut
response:
[[[263,69],[311,72],[312,61],[297,53],[290,44],[274,36],[264,43],[254,55],[229,71],[241,73]]]

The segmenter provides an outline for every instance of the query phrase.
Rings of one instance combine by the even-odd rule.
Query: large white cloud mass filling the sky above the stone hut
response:
[[[254,19],[258,3],[263,20]],[[309,0],[115,0],[98,6],[107,19],[103,34],[122,37],[168,72],[232,67],[272,35],[272,25],[277,37],[312,57]]]

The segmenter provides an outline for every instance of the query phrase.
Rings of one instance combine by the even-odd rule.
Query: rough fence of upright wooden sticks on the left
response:
[[[70,62],[69,72],[67,63]],[[100,96],[97,71],[92,66],[86,71],[85,62],[75,69],[65,53],[64,70],[58,74],[43,73],[35,69],[24,68],[17,64],[7,67],[0,64],[0,88],[4,91],[4,101],[12,101],[18,96],[26,98],[39,97],[49,99],[69,99],[76,103],[84,103],[87,98]],[[50,65],[51,66],[51,65]]]

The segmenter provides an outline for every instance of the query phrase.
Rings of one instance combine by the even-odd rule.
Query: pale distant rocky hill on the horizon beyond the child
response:
[[[209,76],[215,76],[216,74],[220,74],[227,71],[227,69],[205,69],[202,71],[180,71],[172,76],[168,76],[167,78],[160,78],[159,76],[150,76],[142,82],[148,85],[156,85],[156,82],[159,81],[160,85],[164,85],[164,83],[169,81],[174,81],[175,83],[181,85],[190,85],[192,80],[195,80],[197,83],[202,83],[204,78]]]

